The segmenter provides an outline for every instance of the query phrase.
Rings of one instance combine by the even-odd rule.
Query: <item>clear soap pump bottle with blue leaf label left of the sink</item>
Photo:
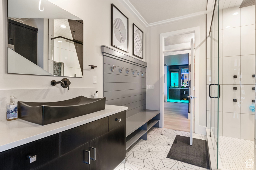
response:
[[[14,101],[13,94],[11,94],[10,102],[7,104],[6,120],[16,120],[18,119],[18,105]]]

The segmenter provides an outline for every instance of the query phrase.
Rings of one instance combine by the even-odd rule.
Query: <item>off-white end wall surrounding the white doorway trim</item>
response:
[[[147,89],[147,109],[159,110],[159,34],[199,26],[200,56],[196,56],[195,72],[200,73],[199,84],[195,84],[195,104],[199,110],[199,125],[206,126],[206,15],[187,20],[151,27],[147,30],[147,84],[155,85],[155,89]],[[195,77],[198,79],[199,77]]]

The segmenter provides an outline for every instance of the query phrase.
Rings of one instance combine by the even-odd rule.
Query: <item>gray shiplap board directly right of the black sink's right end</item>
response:
[[[140,101],[144,99],[146,99],[146,94],[124,97],[121,99],[107,100],[106,104],[123,106],[124,104],[132,103],[132,102]]]

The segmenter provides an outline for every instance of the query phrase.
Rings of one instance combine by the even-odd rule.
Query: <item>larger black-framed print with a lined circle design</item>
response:
[[[111,45],[128,53],[128,18],[111,4]]]

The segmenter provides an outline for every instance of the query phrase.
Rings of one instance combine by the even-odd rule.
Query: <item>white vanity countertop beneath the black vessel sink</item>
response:
[[[127,109],[128,107],[106,104],[105,110],[44,126],[21,119],[0,121],[0,152],[63,132]]]

